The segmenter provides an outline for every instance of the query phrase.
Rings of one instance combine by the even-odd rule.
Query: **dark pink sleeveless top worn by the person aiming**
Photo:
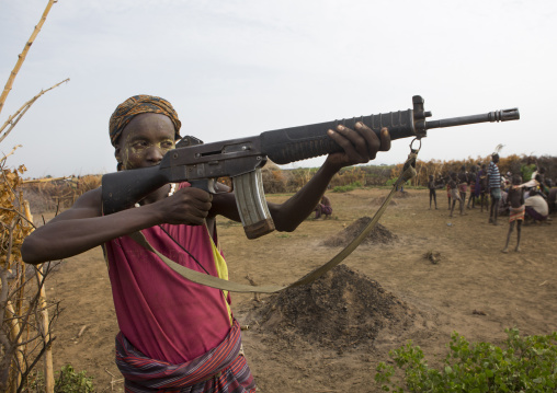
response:
[[[228,279],[224,258],[205,226],[161,226],[143,230],[147,241],[170,259]],[[109,276],[120,328],[144,355],[173,365],[213,349],[231,326],[226,291],[191,282],[157,255],[127,236],[105,244]]]

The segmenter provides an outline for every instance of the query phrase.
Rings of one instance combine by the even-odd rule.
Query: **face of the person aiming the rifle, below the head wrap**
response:
[[[174,135],[169,117],[156,113],[137,115],[116,142],[116,160],[122,162],[122,170],[158,165],[174,148]]]

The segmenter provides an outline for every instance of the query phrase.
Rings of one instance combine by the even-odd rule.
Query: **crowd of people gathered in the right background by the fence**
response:
[[[552,188],[552,181],[545,177],[546,170],[539,167],[533,158],[521,166],[520,173],[507,172],[502,175],[499,170],[499,154],[491,154],[488,165],[471,165],[469,171],[463,165],[458,172],[450,172],[447,176],[429,176],[430,209],[432,204],[437,209],[436,189],[446,187],[448,198],[448,217],[458,201],[461,215],[465,215],[466,196],[469,190],[467,208],[475,208],[479,199],[481,211],[489,210],[488,222],[499,224],[501,212],[509,212],[509,234],[503,252],[508,252],[511,233],[516,222],[518,243],[515,251],[520,251],[521,224],[525,220],[532,222],[549,221],[549,210],[555,209],[557,188]]]

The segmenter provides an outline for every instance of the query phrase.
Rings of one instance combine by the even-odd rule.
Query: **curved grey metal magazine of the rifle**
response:
[[[236,205],[248,239],[257,239],[274,231],[263,190],[261,169],[232,177]]]

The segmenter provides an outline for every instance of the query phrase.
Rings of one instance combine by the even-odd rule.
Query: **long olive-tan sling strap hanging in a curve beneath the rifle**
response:
[[[247,284],[238,284],[234,281],[228,281],[215,276],[211,276],[201,271],[192,270],[185,266],[182,266],[180,264],[177,264],[172,259],[166,257],[162,255],[159,251],[155,250],[151,244],[145,239],[145,235],[141,233],[141,231],[134,232],[129,234],[129,238],[133,239],[138,244],[143,245],[145,248],[149,250],[150,252],[157,254],[157,256],[164,262],[172,270],[181,275],[182,277],[186,278],[190,281],[201,284],[207,287],[217,288],[220,290],[226,290],[230,292],[257,292],[257,293],[275,293],[278,291],[282,291],[286,288],[293,288],[298,287],[305,284],[309,284],[311,281],[315,281],[317,278],[325,275],[327,271],[339,265],[346,256],[352,254],[352,252],[362,243],[362,241],[370,234],[370,232],[374,229],[377,221],[379,221],[379,218],[383,216],[385,210],[387,209],[388,204],[395,196],[395,193],[399,189],[400,186],[402,186],[407,181],[411,180],[416,176],[416,159],[418,157],[418,150],[411,150],[410,154],[408,155],[408,160],[405,162],[402,173],[398,177],[398,180],[393,185],[393,189],[390,190],[389,195],[385,198],[385,201],[379,207],[379,209],[375,212],[372,221],[362,229],[360,234],[348,244],[344,250],[339,252],[332,259],[327,262],[325,265],[319,266],[318,268],[311,270],[300,279],[287,285],[287,286],[273,286],[273,285],[265,285],[265,286],[251,286]]]

